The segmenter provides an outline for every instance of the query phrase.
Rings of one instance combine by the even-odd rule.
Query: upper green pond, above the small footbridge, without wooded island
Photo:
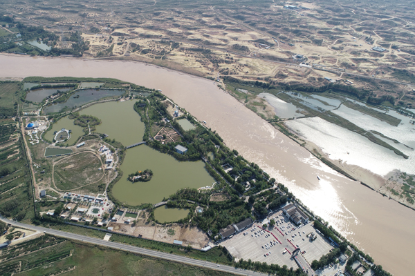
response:
[[[89,106],[80,111],[80,115],[92,115],[101,119],[96,132],[106,133],[110,139],[116,139],[124,146],[142,141],[144,123],[134,111],[136,101],[109,101]],[[134,170],[136,172],[136,170]]]

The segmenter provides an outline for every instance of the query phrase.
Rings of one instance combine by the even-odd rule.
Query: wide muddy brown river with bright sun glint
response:
[[[112,77],[163,90],[196,118],[207,121],[230,148],[288,186],[378,264],[396,275],[412,274],[413,210],[331,170],[214,81],[127,61],[0,55],[0,63],[8,64],[1,66],[0,77]]]

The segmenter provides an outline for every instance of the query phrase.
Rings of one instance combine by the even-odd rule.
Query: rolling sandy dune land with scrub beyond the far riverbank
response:
[[[295,2],[306,8],[299,10],[284,5],[262,0],[104,0],[83,5],[66,1],[62,6],[51,0],[46,8],[11,0],[3,7],[24,23],[41,24],[64,37],[58,48],[71,47],[71,34],[82,32],[89,43],[87,58],[136,60],[203,77],[228,75],[274,84],[320,86],[328,83],[324,77],[349,79],[375,96],[393,95],[403,106],[413,103],[414,86],[366,78],[415,83],[415,24],[408,14],[413,1]],[[386,50],[376,52],[374,46]],[[295,54],[305,59],[293,59]],[[300,68],[300,62],[341,70]]]

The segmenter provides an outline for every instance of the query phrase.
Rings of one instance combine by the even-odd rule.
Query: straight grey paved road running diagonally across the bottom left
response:
[[[159,252],[156,250],[150,250],[150,249],[146,249],[146,248],[140,248],[137,246],[130,246],[127,244],[118,244],[117,242],[107,242],[104,241],[102,239],[97,239],[97,238],[93,238],[93,237],[86,237],[83,235],[77,235],[77,234],[73,234],[73,233],[67,233],[64,231],[60,231],[60,230],[54,230],[54,229],[50,229],[50,228],[44,228],[44,227],[39,227],[39,226],[33,226],[33,225],[29,225],[29,224],[21,224],[19,222],[16,221],[10,221],[9,219],[5,219],[3,217],[0,217],[1,221],[6,222],[6,224],[12,224],[13,226],[18,226],[21,228],[28,228],[30,230],[35,230],[35,231],[39,231],[39,232],[45,232],[49,235],[54,235],[57,237],[64,237],[66,239],[74,239],[76,241],[80,241],[80,242],[87,242],[89,244],[96,244],[99,246],[107,246],[109,248],[114,248],[114,249],[119,249],[119,250],[125,250],[125,251],[129,251],[132,253],[138,253],[141,255],[147,255],[147,256],[151,256],[151,257],[157,257],[160,259],[166,259],[168,261],[174,261],[174,262],[180,262],[183,264],[189,264],[192,266],[202,266],[205,268],[209,268],[209,269],[214,269],[214,270],[219,270],[222,272],[226,272],[226,273],[234,273],[237,275],[266,275],[263,273],[256,273],[254,271],[250,271],[250,270],[243,270],[243,269],[239,269],[239,268],[234,268],[232,266],[224,266],[224,265],[218,265],[218,264],[214,264],[212,262],[205,262],[205,261],[201,261],[199,259],[191,259],[188,257],[183,257],[183,256],[178,256],[178,255],[174,255],[174,254],[169,254],[169,253],[163,253],[163,252]]]

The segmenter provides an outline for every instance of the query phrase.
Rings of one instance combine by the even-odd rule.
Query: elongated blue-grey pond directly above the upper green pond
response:
[[[104,97],[120,96],[124,94],[124,92],[125,90],[111,90],[111,89],[79,90],[75,92],[75,94],[71,95],[71,97],[64,103],[56,103],[50,106],[46,106],[46,108],[44,108],[44,114],[50,113],[50,112],[58,112],[65,106],[67,106],[68,108],[73,108],[75,106],[82,106],[85,103],[89,103],[91,101],[97,101],[98,99],[102,99]]]

